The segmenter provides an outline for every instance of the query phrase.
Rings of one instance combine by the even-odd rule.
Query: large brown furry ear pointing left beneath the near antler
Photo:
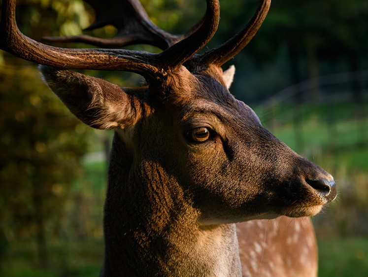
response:
[[[97,129],[133,126],[147,113],[144,99],[99,78],[70,70],[40,66],[39,70],[50,89],[81,121]],[[141,94],[142,95],[142,94]]]

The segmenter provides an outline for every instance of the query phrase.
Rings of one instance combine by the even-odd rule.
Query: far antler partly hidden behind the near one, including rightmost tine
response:
[[[137,0],[110,0],[113,5],[101,5],[99,0],[86,0],[97,12],[96,21],[87,29],[92,30],[108,24],[114,25],[119,32],[113,39],[100,39],[92,36],[74,36],[52,39],[57,42],[85,42],[101,47],[123,47],[134,43],[147,43],[161,49],[167,49],[171,45],[182,40],[197,30],[204,18],[184,35],[172,35],[152,23],[144,8]],[[253,38],[266,18],[271,0],[263,0],[256,13],[248,24],[236,35],[218,48],[207,51],[203,55],[196,56],[186,66],[195,69],[197,66],[206,67],[209,64],[221,66],[238,52],[240,52]],[[110,7],[114,7],[111,9]],[[127,20],[128,19],[128,20]],[[135,32],[136,30],[136,32]],[[140,31],[138,31],[140,30]],[[51,39],[50,39],[51,40]]]

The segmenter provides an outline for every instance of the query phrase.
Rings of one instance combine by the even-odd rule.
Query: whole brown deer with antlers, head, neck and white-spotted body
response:
[[[2,1],[0,48],[39,64],[82,122],[114,130],[100,276],[316,276],[309,216],[335,199],[334,178],[269,133],[229,92],[234,68],[221,68],[256,34],[270,0],[203,54],[219,24],[218,0],[206,0],[203,18],[183,35],[154,25],[137,0],[86,2],[96,10],[89,29],[112,24],[115,37],[45,39],[100,48],[23,35],[15,0]],[[122,49],[138,43],[162,52]],[[134,72],[145,84],[122,88],[71,69]]]

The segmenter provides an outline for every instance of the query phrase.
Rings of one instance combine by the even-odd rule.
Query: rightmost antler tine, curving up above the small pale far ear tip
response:
[[[256,13],[243,30],[234,35],[224,44],[220,45],[218,48],[207,51],[196,59],[199,59],[201,64],[214,64],[217,66],[221,66],[232,59],[249,43],[253,36],[256,35],[258,29],[266,18],[270,4],[271,0],[262,0]]]

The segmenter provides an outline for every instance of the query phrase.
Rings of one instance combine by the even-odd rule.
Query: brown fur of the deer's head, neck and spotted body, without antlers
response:
[[[249,220],[313,215],[334,198],[333,178],[264,129],[253,110],[226,89],[220,68],[191,73],[181,67],[160,82],[148,80],[149,89],[135,90],[70,71],[42,72],[76,116],[116,132],[101,275],[240,276],[242,271],[245,276],[274,276],[271,264],[289,276],[315,275],[314,237],[309,238],[311,248],[305,248],[305,264],[290,266],[288,258],[278,256],[296,251],[295,244],[287,243],[293,232],[289,226],[299,222],[300,229],[305,227],[299,234],[308,238],[313,234],[309,221],[270,220],[271,227],[281,228],[273,227],[264,240],[255,236],[257,229],[249,227],[255,223]],[[75,76],[76,85],[64,89]],[[85,109],[91,105],[102,111],[91,115]],[[191,141],[188,133],[203,126],[211,130],[210,138]],[[323,184],[311,180],[331,187],[321,189]],[[239,235],[240,257],[234,225],[239,221],[248,221]],[[259,232],[266,233],[269,225]],[[263,259],[249,257],[255,247],[249,243],[258,243],[258,251],[263,246]]]

